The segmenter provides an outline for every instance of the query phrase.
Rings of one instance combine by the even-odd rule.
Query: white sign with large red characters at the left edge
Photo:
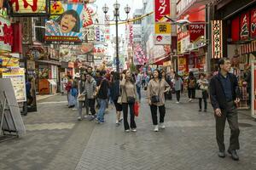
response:
[[[11,52],[13,38],[13,29],[9,20],[0,16],[0,53]]]

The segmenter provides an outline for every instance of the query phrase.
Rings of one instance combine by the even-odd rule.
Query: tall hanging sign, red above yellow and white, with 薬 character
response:
[[[171,45],[172,42],[172,26],[170,17],[171,6],[169,0],[154,0],[154,44]]]

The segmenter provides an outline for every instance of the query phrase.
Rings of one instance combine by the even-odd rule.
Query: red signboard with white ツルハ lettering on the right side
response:
[[[205,35],[204,24],[190,24],[189,25],[190,42],[196,42],[200,37]]]

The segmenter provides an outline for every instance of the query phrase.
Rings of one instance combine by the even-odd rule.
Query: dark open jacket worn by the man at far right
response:
[[[232,99],[240,98],[240,90],[238,87],[237,78],[235,75],[228,73],[231,83]],[[220,81],[221,75],[218,72],[217,75],[212,77],[210,82],[210,98],[212,107],[214,110],[220,108],[224,109],[227,105],[226,96],[224,94],[224,87]]]

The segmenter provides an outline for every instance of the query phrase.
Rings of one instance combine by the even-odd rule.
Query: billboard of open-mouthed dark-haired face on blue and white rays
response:
[[[58,6],[58,8],[60,7]],[[84,4],[61,4],[61,11],[61,14],[58,13],[51,20],[46,20],[45,41],[67,44],[82,42]]]

